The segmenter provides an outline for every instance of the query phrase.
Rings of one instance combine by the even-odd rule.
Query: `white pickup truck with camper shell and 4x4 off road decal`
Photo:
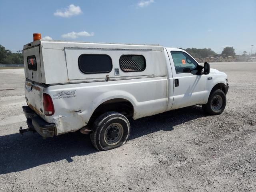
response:
[[[98,150],[126,143],[128,118],[226,106],[228,78],[186,51],[159,45],[35,40],[23,49],[26,131],[44,138],[80,130]]]

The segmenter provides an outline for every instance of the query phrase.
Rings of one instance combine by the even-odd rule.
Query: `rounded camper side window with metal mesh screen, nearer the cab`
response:
[[[124,72],[144,71],[146,59],[143,55],[122,55],[119,65]]]

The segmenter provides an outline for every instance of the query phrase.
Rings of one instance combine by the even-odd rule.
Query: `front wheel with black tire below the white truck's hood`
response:
[[[222,90],[217,89],[210,94],[207,104],[203,104],[202,109],[207,114],[219,115],[224,111],[226,102],[225,93]]]

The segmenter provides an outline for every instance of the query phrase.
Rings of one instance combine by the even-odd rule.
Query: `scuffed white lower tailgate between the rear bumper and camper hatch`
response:
[[[36,114],[38,114],[41,117],[44,116],[43,92],[43,84],[34,84],[34,82],[26,80],[25,97],[27,104],[34,112],[36,112]]]

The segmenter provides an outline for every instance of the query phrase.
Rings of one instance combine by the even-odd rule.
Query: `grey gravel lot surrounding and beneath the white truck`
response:
[[[0,70],[0,191],[256,191],[256,62],[215,63],[227,106],[193,106],[131,121],[128,142],[98,152],[79,132],[18,134],[24,70]]]

